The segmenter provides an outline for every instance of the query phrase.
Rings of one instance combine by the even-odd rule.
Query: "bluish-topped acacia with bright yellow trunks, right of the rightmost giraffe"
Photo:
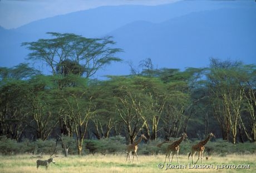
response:
[[[241,123],[247,133],[242,113],[244,106],[248,107],[245,104],[245,98],[248,98],[245,97],[248,96],[245,91],[248,90],[248,81],[252,81],[248,80],[249,76],[251,75],[242,62],[220,62],[211,59],[211,68],[207,77],[214,115],[222,127],[223,139],[229,140],[230,136],[233,144],[236,142],[237,129],[240,128]],[[253,116],[251,120],[254,121]]]

